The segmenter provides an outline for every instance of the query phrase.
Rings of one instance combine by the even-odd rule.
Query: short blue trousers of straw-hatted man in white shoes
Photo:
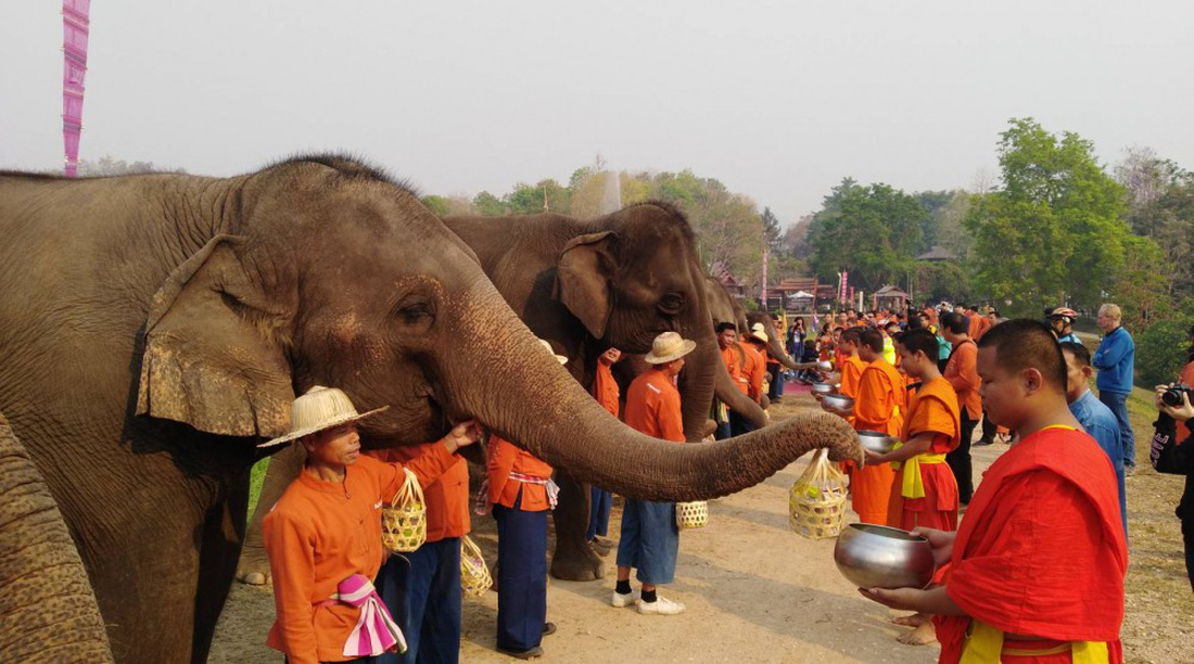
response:
[[[679,554],[676,503],[626,500],[622,535],[617,540],[617,566],[634,567],[635,578],[651,585],[671,583]]]

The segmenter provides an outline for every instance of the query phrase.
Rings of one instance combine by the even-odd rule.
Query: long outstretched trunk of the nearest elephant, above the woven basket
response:
[[[546,351],[488,283],[445,306],[462,343],[437,359],[455,418],[475,417],[576,478],[640,500],[698,500],[753,486],[802,454],[829,448],[861,461],[841,418],[802,414],[716,443],[677,444],[644,436],[602,408]],[[466,315],[467,314],[467,315]],[[529,349],[529,350],[525,350]]]

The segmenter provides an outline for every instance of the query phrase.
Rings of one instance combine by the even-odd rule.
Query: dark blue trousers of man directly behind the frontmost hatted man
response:
[[[407,650],[377,656],[377,664],[460,662],[460,537],[392,554],[377,572],[377,594],[402,628]]]

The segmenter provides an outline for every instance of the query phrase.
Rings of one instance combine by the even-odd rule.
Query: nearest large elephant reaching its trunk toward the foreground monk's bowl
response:
[[[638,499],[727,494],[814,448],[861,459],[832,416],[716,447],[622,425],[467,245],[351,159],[233,178],[5,172],[0,233],[0,412],[62,512],[117,662],[207,658],[257,443],[314,385],[390,406],[363,423],[367,448],[478,419]]]

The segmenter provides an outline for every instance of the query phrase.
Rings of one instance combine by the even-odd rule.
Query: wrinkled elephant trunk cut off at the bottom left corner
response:
[[[0,662],[112,662],[87,571],[50,490],[0,417]]]

